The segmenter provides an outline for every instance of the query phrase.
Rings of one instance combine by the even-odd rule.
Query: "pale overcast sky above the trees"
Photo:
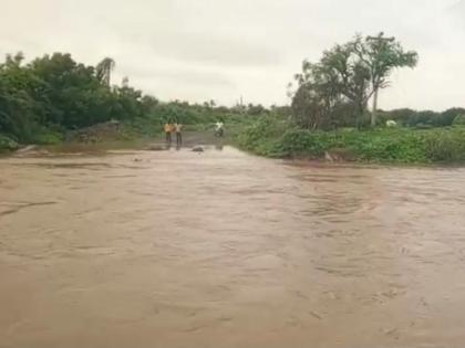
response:
[[[0,0],[0,54],[70,52],[116,61],[161,99],[289,103],[303,59],[355,32],[395,35],[420,53],[380,107],[465,106],[465,0]]]

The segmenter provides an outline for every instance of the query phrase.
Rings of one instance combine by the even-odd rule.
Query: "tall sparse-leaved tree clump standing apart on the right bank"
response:
[[[366,122],[369,101],[373,101],[371,125],[376,125],[380,89],[390,85],[393,70],[414,67],[418,56],[405,51],[395,38],[356,35],[324,51],[317,63],[304,61],[296,74],[292,97],[296,122],[304,128],[361,126]],[[292,85],[290,85],[292,86]]]

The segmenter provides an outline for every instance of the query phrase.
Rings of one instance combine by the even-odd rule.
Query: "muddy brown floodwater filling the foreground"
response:
[[[230,148],[1,159],[0,347],[464,347],[464,178]]]

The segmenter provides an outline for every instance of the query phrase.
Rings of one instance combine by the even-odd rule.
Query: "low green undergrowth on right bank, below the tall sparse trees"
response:
[[[381,164],[465,162],[465,127],[433,129],[307,130],[283,120],[261,119],[239,137],[239,146],[273,158]]]

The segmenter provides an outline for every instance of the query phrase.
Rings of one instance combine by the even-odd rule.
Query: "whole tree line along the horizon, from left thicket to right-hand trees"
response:
[[[159,124],[195,124],[261,115],[278,115],[291,118],[302,128],[323,130],[360,128],[388,119],[410,127],[465,123],[463,108],[435,113],[385,112],[378,107],[378,93],[390,86],[391,73],[401,67],[413,68],[417,61],[417,53],[405,50],[395,38],[383,33],[355,35],[324,51],[318,62],[302,63],[289,89],[290,106],[267,108],[260,104],[225,107],[214,101],[164,103],[131,87],[127,78],[112,85],[115,62],[110,57],[93,66],[74,61],[68,53],[46,54],[28,63],[22,53],[9,54],[0,62],[0,134],[20,143],[39,143],[43,134],[63,135],[108,120],[149,118]]]

